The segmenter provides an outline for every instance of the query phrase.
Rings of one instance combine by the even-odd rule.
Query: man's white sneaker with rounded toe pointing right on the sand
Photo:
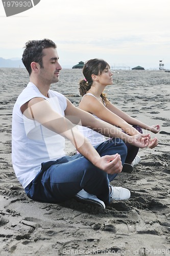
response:
[[[130,198],[131,193],[127,188],[124,187],[113,187],[109,185],[111,188],[110,200],[127,200]]]

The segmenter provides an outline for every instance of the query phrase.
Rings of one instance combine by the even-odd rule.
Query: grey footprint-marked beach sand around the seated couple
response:
[[[108,98],[149,125],[160,124],[159,145],[139,151],[132,174],[112,185],[131,191],[106,209],[71,199],[62,204],[30,200],[11,163],[12,108],[29,77],[25,69],[0,69],[0,255],[170,255],[170,74],[116,71]],[[52,89],[77,105],[81,70],[63,69]],[[66,153],[75,149],[66,142]]]

